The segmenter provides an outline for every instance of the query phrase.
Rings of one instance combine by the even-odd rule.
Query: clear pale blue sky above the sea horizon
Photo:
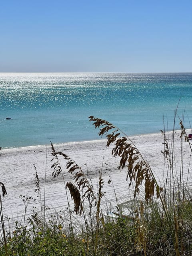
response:
[[[0,72],[192,72],[192,0],[2,0]]]

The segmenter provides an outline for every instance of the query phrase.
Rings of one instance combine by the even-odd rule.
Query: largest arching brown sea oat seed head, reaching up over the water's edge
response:
[[[110,144],[114,143],[112,157],[120,157],[118,169],[120,170],[126,166],[128,167],[126,180],[128,180],[128,178],[130,180],[129,188],[131,187],[132,182],[135,182],[134,198],[136,197],[136,194],[140,192],[140,185],[142,185],[143,182],[145,186],[146,202],[148,203],[154,196],[155,188],[157,198],[159,198],[162,188],[158,185],[150,165],[145,161],[132,140],[130,140],[122,130],[108,121],[100,118],[94,118],[94,116],[90,116],[89,118],[90,121],[93,122],[95,128],[101,127],[98,135],[101,137],[106,136],[106,147],[109,147]],[[118,136],[120,134],[124,136],[119,138]]]

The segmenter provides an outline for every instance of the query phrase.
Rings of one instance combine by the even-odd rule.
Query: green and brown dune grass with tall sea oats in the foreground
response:
[[[63,179],[66,192],[69,191],[74,200],[74,209],[68,205],[67,218],[59,213],[52,213],[50,218],[46,218],[42,186],[34,167],[40,212],[34,210],[30,217],[25,216],[31,198],[23,196],[24,220],[22,223],[16,222],[14,227],[6,230],[2,205],[6,188],[0,183],[0,255],[191,256],[192,190],[188,180],[183,179],[182,157],[180,175],[176,176],[174,173],[174,129],[171,139],[161,131],[164,144],[162,185],[158,184],[149,164],[126,134],[105,120],[90,116],[90,121],[95,128],[100,128],[99,136],[106,136],[106,146],[114,145],[112,156],[120,158],[119,169],[127,169],[125,178],[130,181],[130,188],[134,190],[134,207],[130,213],[121,214],[117,206],[116,218],[104,216],[101,208],[104,196],[102,172],[99,173],[98,190],[94,191],[91,180],[81,167],[70,156],[56,152],[51,144],[52,177],[60,176]],[[180,128],[182,156],[182,143],[188,143],[190,152],[192,147],[182,120]],[[60,157],[66,160],[66,170],[74,176],[73,182],[64,180]],[[144,201],[137,200],[141,187],[144,188]],[[85,202],[89,206],[88,209],[84,208]],[[79,215],[81,219],[78,229],[74,223],[74,214]]]

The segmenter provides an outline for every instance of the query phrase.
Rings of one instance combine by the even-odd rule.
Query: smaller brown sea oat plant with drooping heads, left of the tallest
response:
[[[96,192],[94,191],[93,185],[91,180],[87,177],[87,175],[84,173],[82,168],[76,164],[76,162],[70,158],[68,155],[62,153],[62,152],[56,152],[54,149],[54,146],[52,144],[52,155],[54,158],[52,160],[56,160],[54,164],[52,165],[52,168],[54,169],[52,176],[55,178],[60,173],[62,173],[61,167],[58,160],[58,156],[64,157],[66,162],[66,170],[69,174],[74,174],[74,182],[67,182],[66,188],[68,188],[71,198],[74,201],[74,212],[76,214],[83,214],[84,217],[84,223],[86,227],[86,241],[87,241],[87,253],[88,253],[88,241],[89,241],[89,229],[88,229],[88,221],[86,217],[86,213],[84,211],[84,201],[86,200],[89,204],[89,215],[92,218],[92,207],[96,207],[96,224],[95,228],[93,228],[93,219],[91,220],[91,230],[92,230],[92,240],[95,241],[95,249],[98,247],[98,229],[100,228],[100,218],[102,218],[102,213],[100,211],[100,204],[102,197],[104,195],[104,192],[102,192],[104,181],[102,179],[102,170],[99,171],[99,188],[98,188],[98,196]]]

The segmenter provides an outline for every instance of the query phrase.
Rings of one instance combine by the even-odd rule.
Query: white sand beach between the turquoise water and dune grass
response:
[[[190,131],[188,131],[190,133]],[[172,133],[169,134],[170,139]],[[180,172],[181,160],[181,140],[180,131],[175,132],[174,138],[174,169]],[[161,150],[164,150],[164,141],[162,134],[147,134],[130,137],[138,150],[142,153],[146,161],[150,164],[156,178],[162,181],[164,156]],[[190,141],[191,143],[191,141]],[[54,144],[54,142],[53,142]],[[133,199],[132,190],[128,189],[129,182],[126,182],[125,170],[118,170],[118,158],[112,158],[110,148],[105,148],[106,140],[94,140],[87,142],[70,142],[64,144],[55,144],[55,150],[61,151],[70,156],[92,180],[92,184],[97,189],[98,171],[102,170],[104,179],[103,198],[105,206],[116,205],[118,202],[124,202]],[[189,181],[192,178],[192,166],[190,165],[191,151],[188,143],[183,142],[183,170],[187,175],[189,170]],[[7,195],[2,200],[4,214],[13,220],[22,217],[24,211],[24,202],[19,198],[22,196],[32,196],[28,214],[32,207],[38,207],[39,198],[34,192],[36,189],[35,170],[36,166],[40,179],[40,188],[44,200],[45,188],[45,206],[55,208],[56,210],[66,210],[68,207],[66,192],[62,176],[52,178],[51,146],[30,146],[24,148],[2,149],[0,151],[1,178]],[[60,164],[64,173],[64,180],[68,182],[73,179],[65,168],[66,160],[60,157]],[[187,177],[184,177],[185,179]],[[108,184],[108,180],[112,182]],[[46,184],[45,184],[46,180]],[[34,199],[36,199],[34,201]]]

